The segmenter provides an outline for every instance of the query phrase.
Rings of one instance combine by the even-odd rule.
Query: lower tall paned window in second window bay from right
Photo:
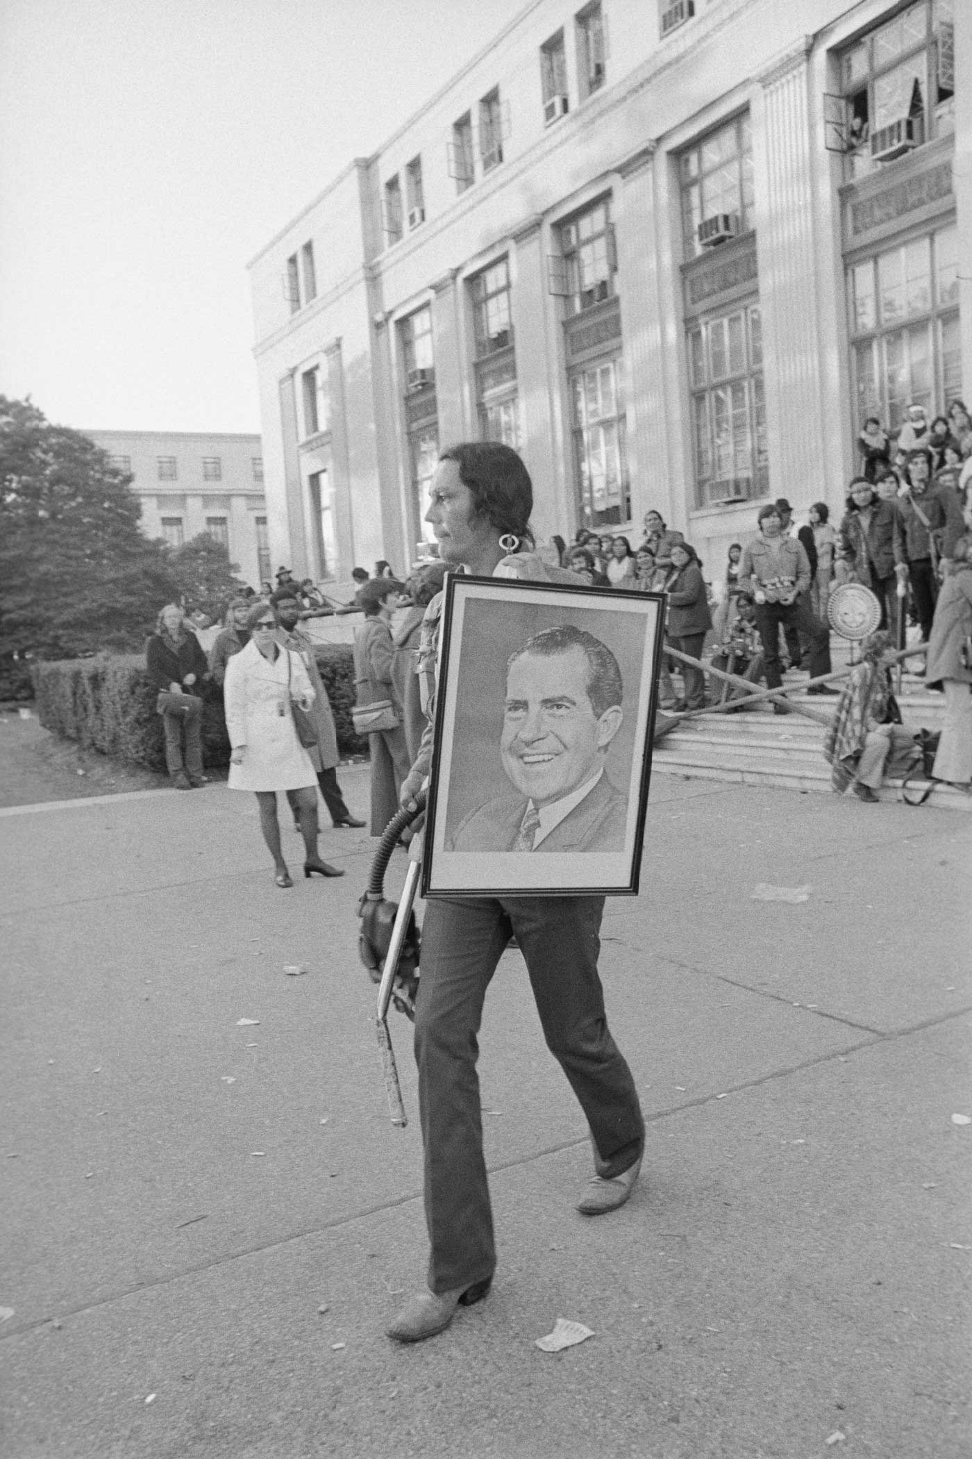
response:
[[[746,500],[769,490],[759,305],[688,331],[695,500]]]

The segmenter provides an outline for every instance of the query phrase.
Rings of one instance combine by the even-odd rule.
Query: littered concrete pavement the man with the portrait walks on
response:
[[[280,891],[224,786],[0,818],[0,1453],[968,1455],[971,846],[947,811],[656,775],[602,956],[641,1183],[574,1212],[584,1122],[507,951],[497,1281],[402,1350],[426,1234],[409,1027],[398,1131],[357,959],[373,842],[325,832],[347,877]],[[541,1352],[557,1316],[596,1336]]]

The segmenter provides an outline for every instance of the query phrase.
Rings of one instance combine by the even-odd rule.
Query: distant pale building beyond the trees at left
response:
[[[271,578],[264,448],[256,435],[87,430],[134,477],[146,537],[181,547],[200,533],[223,543],[245,582]],[[286,557],[281,563],[290,566]]]

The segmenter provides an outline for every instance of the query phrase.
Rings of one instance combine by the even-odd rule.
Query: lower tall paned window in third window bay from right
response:
[[[619,365],[619,359],[603,360],[571,378],[579,508],[584,527],[624,522],[631,515]]]

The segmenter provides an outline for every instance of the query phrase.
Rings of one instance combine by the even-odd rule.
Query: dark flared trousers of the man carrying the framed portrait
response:
[[[641,1154],[638,1094],[597,976],[603,907],[603,897],[436,897],[426,907],[415,1061],[431,1291],[495,1268],[477,1059],[485,991],[512,932],[546,1046],[587,1116],[597,1174],[618,1176]]]

